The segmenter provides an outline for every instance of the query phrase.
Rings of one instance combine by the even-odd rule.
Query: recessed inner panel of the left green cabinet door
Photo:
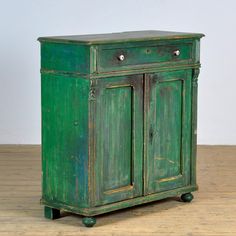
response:
[[[132,87],[108,87],[104,93],[97,139],[104,157],[101,184],[110,191],[132,184]]]

